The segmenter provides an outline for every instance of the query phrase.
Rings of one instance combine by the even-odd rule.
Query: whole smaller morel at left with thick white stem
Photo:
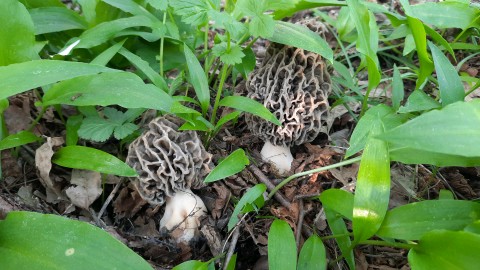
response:
[[[198,233],[207,210],[190,188],[203,186],[211,155],[195,131],[179,131],[180,120],[171,116],[152,120],[128,148],[127,164],[138,173],[135,187],[154,205],[166,202],[160,230],[171,231],[177,242],[188,243]]]

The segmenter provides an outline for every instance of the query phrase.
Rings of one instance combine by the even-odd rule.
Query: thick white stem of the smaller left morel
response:
[[[160,231],[167,229],[177,242],[188,243],[198,235],[200,218],[207,213],[202,199],[190,189],[177,191],[166,198],[165,214],[160,220]]]

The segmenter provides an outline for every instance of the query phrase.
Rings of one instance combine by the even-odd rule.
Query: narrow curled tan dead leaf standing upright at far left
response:
[[[63,142],[61,137],[48,137],[47,142],[35,152],[35,166],[38,170],[40,182],[46,189],[52,190],[58,198],[63,198],[61,187],[50,178],[50,170],[52,169],[52,156],[54,154],[53,147],[60,146]]]

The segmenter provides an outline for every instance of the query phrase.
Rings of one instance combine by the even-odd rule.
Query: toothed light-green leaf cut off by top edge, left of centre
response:
[[[182,22],[193,26],[208,23],[208,11],[212,9],[206,0],[169,0],[169,5],[182,16]]]

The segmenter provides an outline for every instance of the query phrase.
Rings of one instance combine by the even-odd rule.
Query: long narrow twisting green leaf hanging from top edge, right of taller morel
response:
[[[378,63],[378,26],[375,16],[359,0],[347,0],[350,16],[357,29],[357,51],[363,54],[367,61],[368,90],[363,102],[362,111],[365,111],[370,91],[380,83],[380,64]]]

